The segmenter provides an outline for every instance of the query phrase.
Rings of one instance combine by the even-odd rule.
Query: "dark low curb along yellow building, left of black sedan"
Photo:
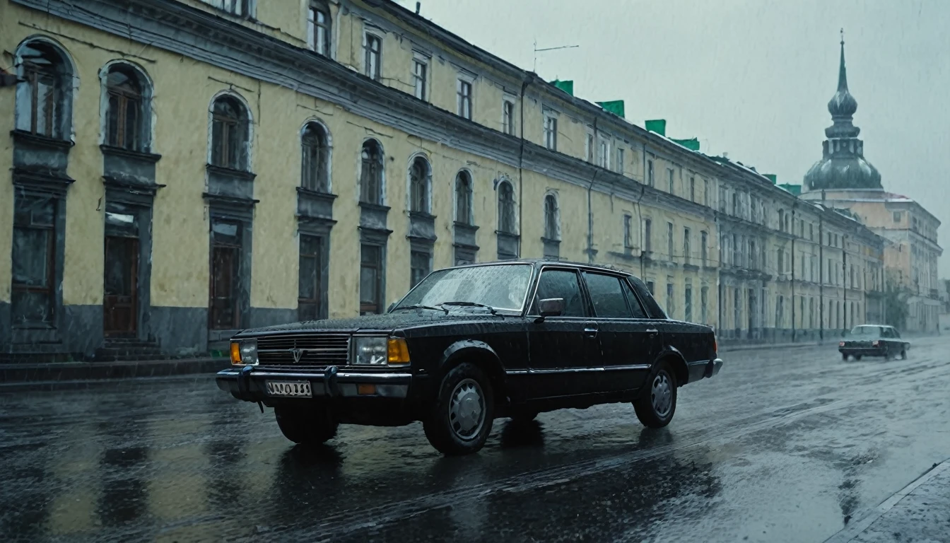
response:
[[[230,367],[228,359],[215,358],[0,364],[0,386],[9,390],[8,386],[31,383],[211,374],[227,367]]]

